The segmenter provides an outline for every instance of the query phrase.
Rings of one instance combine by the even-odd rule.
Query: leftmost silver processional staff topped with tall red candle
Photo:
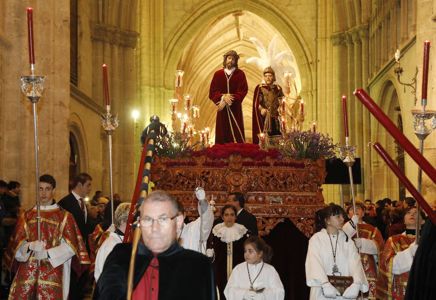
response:
[[[44,90],[44,76],[35,76],[35,54],[33,47],[33,8],[27,8],[27,30],[29,39],[29,62],[31,65],[31,75],[22,76],[21,79],[21,90],[29,98],[31,104],[33,105],[33,129],[35,136],[35,167],[36,167],[36,218],[37,228],[38,228],[38,241],[41,241],[41,211],[39,204],[39,167],[38,167],[38,115],[36,111],[36,104],[42,97],[42,92]],[[29,88],[26,84],[30,84]]]

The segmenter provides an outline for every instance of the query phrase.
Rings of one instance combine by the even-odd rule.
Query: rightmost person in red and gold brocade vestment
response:
[[[404,299],[409,271],[418,245],[415,243],[417,209],[405,210],[403,218],[405,232],[391,236],[380,255],[377,299]],[[424,214],[421,214],[421,225]]]

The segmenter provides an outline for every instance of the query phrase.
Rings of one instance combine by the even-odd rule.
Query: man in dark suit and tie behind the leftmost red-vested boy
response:
[[[86,244],[86,249],[89,253],[88,245],[88,232],[86,230],[86,221],[88,220],[88,210],[85,205],[85,196],[91,192],[91,184],[93,178],[87,173],[78,174],[73,180],[73,189],[71,193],[63,197],[58,205],[62,209],[71,213],[76,220],[79,227],[80,234]],[[70,274],[70,300],[83,299],[80,295],[83,293],[83,288],[85,287],[89,276],[89,270],[82,273],[80,278],[78,278],[76,272],[71,268]]]

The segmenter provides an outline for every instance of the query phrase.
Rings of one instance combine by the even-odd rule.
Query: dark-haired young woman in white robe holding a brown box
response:
[[[311,300],[356,299],[369,289],[365,272],[353,240],[342,231],[344,210],[331,203],[315,213],[317,232],[309,240],[306,257],[306,283]],[[327,275],[351,276],[353,284],[343,295],[328,281]]]

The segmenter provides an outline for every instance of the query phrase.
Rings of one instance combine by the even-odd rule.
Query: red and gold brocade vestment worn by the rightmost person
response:
[[[379,275],[377,284],[377,299],[387,300],[403,300],[409,272],[399,275],[393,275],[392,278],[392,262],[394,256],[405,249],[409,248],[410,244],[415,241],[415,236],[397,234],[391,236],[385,244],[384,250],[380,255]]]

